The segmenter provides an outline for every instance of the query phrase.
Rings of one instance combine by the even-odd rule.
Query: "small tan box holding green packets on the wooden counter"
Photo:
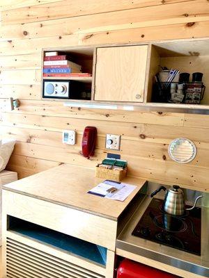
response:
[[[102,179],[110,179],[112,181],[122,181],[127,174],[127,167],[121,170],[114,170],[105,169],[97,165],[95,168],[95,177]]]

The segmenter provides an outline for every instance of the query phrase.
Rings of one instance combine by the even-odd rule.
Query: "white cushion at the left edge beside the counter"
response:
[[[0,172],[6,168],[15,146],[16,140],[3,139],[0,145]]]

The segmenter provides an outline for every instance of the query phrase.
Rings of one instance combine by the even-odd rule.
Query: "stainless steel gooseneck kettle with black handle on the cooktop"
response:
[[[153,197],[154,195],[159,193],[160,190],[166,191],[166,195],[164,197],[163,209],[165,212],[171,215],[184,215],[185,211],[191,211],[196,206],[197,200],[203,197],[202,195],[197,197],[194,202],[194,206],[192,206],[192,208],[185,208],[184,193],[179,186],[172,186],[169,189],[165,188],[164,186],[160,186],[160,188],[155,190],[150,195],[150,197]]]

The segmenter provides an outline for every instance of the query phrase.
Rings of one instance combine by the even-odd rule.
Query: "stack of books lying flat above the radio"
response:
[[[82,66],[73,63],[68,55],[60,55],[57,51],[45,52],[43,77],[89,77],[82,73]]]

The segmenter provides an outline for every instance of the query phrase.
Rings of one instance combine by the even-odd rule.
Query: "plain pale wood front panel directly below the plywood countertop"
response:
[[[3,213],[115,250],[117,222],[3,190]]]

